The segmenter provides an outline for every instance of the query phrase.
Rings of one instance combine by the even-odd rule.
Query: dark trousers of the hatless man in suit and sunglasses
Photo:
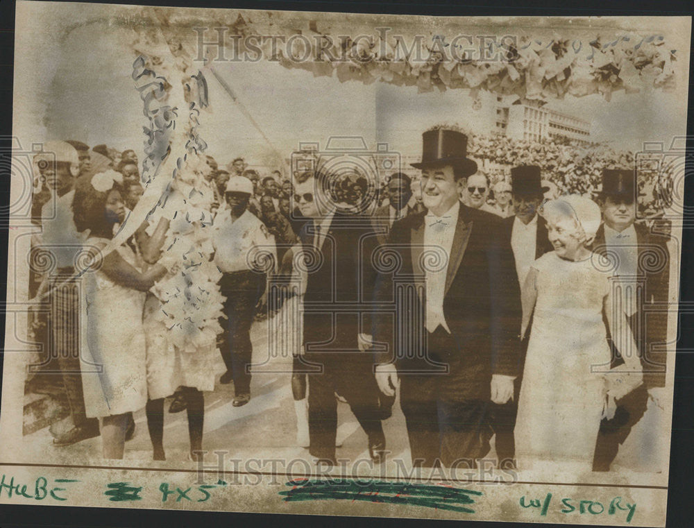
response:
[[[329,357],[326,358],[326,355]],[[310,454],[319,459],[335,461],[336,392],[347,400],[359,425],[369,438],[374,434],[383,434],[379,389],[373,376],[373,362],[370,356],[335,352],[323,355],[309,354],[307,359],[323,364],[322,373],[308,375]]]

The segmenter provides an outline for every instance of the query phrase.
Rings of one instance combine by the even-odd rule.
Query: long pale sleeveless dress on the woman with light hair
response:
[[[571,262],[554,251],[532,267],[537,300],[514,432],[518,468],[550,461],[590,471],[610,362],[602,318],[609,278],[590,258]]]

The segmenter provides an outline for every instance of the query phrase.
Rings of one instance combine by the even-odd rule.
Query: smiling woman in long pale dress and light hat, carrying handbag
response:
[[[623,312],[612,309],[609,273],[589,249],[600,208],[589,198],[563,196],[545,203],[541,214],[555,250],[534,262],[522,291],[522,337],[531,315],[532,330],[516,458],[521,469],[541,469],[546,462],[555,470],[590,471],[600,420],[614,414],[615,399],[641,384],[641,364],[627,353],[620,373],[608,374],[604,321],[618,350],[637,349]]]

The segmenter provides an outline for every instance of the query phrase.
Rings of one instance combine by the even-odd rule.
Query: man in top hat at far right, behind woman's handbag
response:
[[[611,420],[602,420],[595,447],[593,470],[608,471],[619,445],[623,444],[632,427],[641,420],[651,398],[662,406],[665,386],[666,352],[660,348],[667,337],[667,313],[650,312],[644,308],[654,303],[668,302],[670,255],[667,236],[652,233],[645,225],[634,223],[638,187],[633,169],[605,169],[602,172],[603,223],[593,242],[595,253],[617,257],[616,284],[620,287],[616,309],[623,309],[631,328],[643,367],[643,384],[618,400]],[[654,263],[654,264],[653,264]],[[640,293],[639,293],[640,292]],[[609,336],[608,336],[609,338]],[[623,364],[621,355],[632,351],[612,347],[613,368]]]

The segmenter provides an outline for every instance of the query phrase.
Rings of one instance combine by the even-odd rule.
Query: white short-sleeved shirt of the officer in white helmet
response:
[[[275,241],[265,225],[246,210],[236,220],[232,220],[230,210],[220,210],[214,219],[212,231],[214,263],[222,273],[250,270],[255,253],[272,253],[277,267]]]

